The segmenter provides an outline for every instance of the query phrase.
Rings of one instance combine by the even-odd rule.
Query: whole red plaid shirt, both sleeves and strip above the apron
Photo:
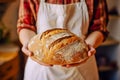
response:
[[[79,1],[80,0],[46,0],[46,2],[53,4],[70,4]],[[108,31],[106,29],[108,23],[106,1],[86,0],[86,3],[90,19],[88,34],[93,31],[100,31],[106,38],[108,35]],[[36,32],[35,25],[39,4],[40,0],[20,0],[19,18],[17,24],[18,32],[23,28]]]

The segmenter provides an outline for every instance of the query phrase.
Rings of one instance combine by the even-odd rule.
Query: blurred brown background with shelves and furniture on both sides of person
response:
[[[97,48],[100,80],[120,80],[120,0],[107,0],[108,39]],[[16,32],[19,0],[0,0],[0,80],[23,80],[26,56]]]

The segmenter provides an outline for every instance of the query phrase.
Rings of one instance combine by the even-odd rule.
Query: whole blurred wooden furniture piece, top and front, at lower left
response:
[[[0,80],[17,80],[19,73],[18,47],[14,44],[0,45]]]

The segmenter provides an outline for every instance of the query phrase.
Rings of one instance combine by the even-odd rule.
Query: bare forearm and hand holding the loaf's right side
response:
[[[92,56],[96,53],[95,48],[97,48],[102,42],[103,42],[104,36],[100,31],[94,31],[90,33],[87,38],[85,39],[86,44],[88,44],[89,51],[88,51],[88,56]],[[63,65],[64,67],[74,67],[78,66],[82,63],[85,63],[87,60],[77,63],[77,64],[72,64],[72,65]]]

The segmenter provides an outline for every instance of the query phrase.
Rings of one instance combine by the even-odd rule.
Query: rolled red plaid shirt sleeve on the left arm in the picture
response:
[[[34,0],[35,1],[35,0]],[[30,29],[36,32],[36,13],[38,8],[37,0],[20,0],[17,32],[21,29]]]

